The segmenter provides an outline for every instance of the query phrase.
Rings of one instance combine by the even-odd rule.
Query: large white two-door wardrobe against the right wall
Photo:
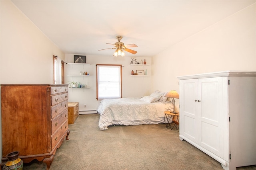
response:
[[[256,72],[180,76],[180,139],[225,170],[256,164]]]

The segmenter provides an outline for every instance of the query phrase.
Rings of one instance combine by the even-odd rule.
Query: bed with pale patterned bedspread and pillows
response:
[[[164,111],[172,109],[172,103],[165,95],[165,92],[156,90],[142,98],[102,100],[97,108],[100,130],[106,130],[111,125],[164,123]]]

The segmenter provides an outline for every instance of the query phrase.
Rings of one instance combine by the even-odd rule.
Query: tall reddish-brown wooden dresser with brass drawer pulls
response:
[[[1,84],[2,164],[20,151],[24,163],[36,159],[50,168],[56,149],[68,140],[68,86]]]

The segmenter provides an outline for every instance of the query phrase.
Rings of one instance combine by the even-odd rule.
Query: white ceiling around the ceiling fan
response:
[[[11,0],[64,53],[152,57],[256,0]]]

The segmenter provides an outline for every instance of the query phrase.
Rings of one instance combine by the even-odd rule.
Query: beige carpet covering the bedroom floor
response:
[[[204,152],[180,141],[165,124],[98,128],[98,114],[80,115],[69,125],[70,140],[57,150],[50,170],[223,170]],[[33,161],[24,170],[45,170]],[[256,166],[239,168],[256,170]]]

